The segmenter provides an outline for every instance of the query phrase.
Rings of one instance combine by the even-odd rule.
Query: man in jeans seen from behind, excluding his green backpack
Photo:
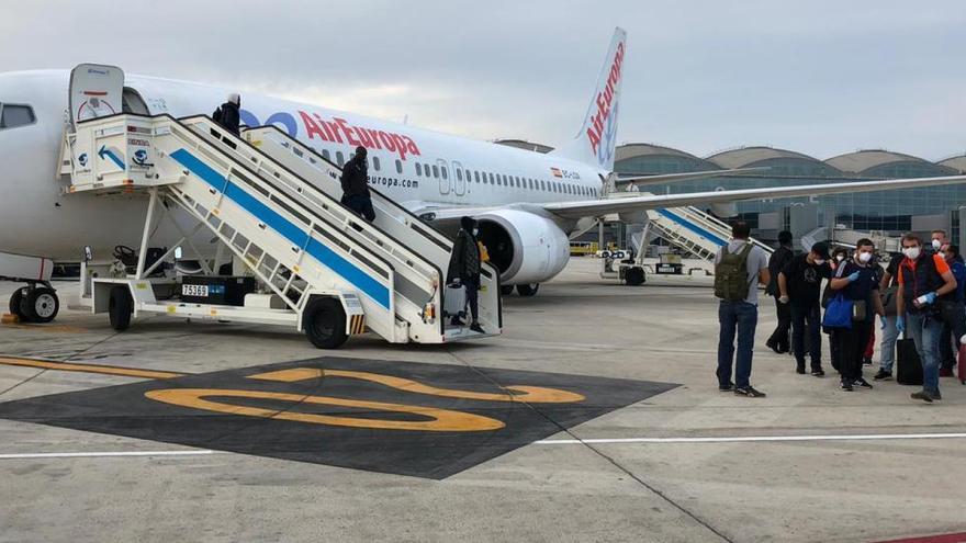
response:
[[[759,323],[759,283],[768,284],[768,256],[761,247],[751,245],[751,227],[744,220],[731,226],[731,241],[718,250],[715,263],[722,256],[746,252],[748,294],[744,299],[721,299],[718,305],[718,389],[734,391],[739,396],[761,398],[765,394],[751,386],[751,360],[754,352],[754,333]],[[717,265],[716,265],[717,268]],[[717,273],[717,272],[716,272]],[[738,358],[735,359],[734,338],[738,336]],[[731,382],[732,366],[734,382]]]

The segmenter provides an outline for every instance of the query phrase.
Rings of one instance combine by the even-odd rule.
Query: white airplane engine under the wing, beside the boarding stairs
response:
[[[476,220],[504,285],[541,283],[566,265],[570,241],[553,220],[519,210],[495,210]]]

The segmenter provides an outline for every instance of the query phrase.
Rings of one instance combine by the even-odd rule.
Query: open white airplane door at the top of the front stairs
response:
[[[70,122],[121,113],[124,71],[116,66],[79,64],[70,71]]]

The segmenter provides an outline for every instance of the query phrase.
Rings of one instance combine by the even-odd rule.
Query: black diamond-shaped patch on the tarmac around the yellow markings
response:
[[[533,386],[583,396],[579,401],[529,403],[519,399],[451,397],[430,391],[387,386],[385,383],[328,376],[280,382],[250,378],[283,370],[316,369],[368,372],[404,378],[437,389],[506,394],[501,386]],[[647,399],[677,385],[586,375],[517,370],[474,369],[342,358],[317,358],[281,364],[155,380],[90,391],[54,394],[0,404],[0,418],[126,435],[242,454],[311,462],[372,472],[441,479],[544,439],[606,412]],[[204,400],[233,409],[268,409],[281,417],[338,417],[377,423],[425,422],[430,408],[456,412],[469,426],[483,421],[498,429],[427,431],[330,426],[315,421],[217,412],[175,405],[146,396],[165,397],[178,389],[232,389],[250,396],[205,394]],[[160,392],[171,391],[171,392]],[[297,395],[293,398],[290,395]],[[456,393],[460,396],[461,393]],[[465,395],[464,395],[465,396]],[[364,406],[330,405],[304,398],[339,398],[409,406],[417,412],[387,411]],[[300,401],[300,399],[303,399]],[[412,409],[411,409],[412,410]],[[488,421],[488,422],[487,422]],[[361,422],[363,426],[367,422]]]

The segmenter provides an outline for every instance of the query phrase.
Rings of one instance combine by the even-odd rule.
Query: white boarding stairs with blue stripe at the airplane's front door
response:
[[[268,128],[260,131],[268,134]],[[261,132],[258,142],[266,142]],[[116,309],[111,292],[122,285],[130,289],[126,303],[134,317],[144,312],[291,325],[317,347],[338,347],[363,328],[392,343],[443,343],[501,332],[495,268],[486,264],[481,278],[484,333],[450,325],[442,313],[452,247],[446,236],[374,191],[377,219],[366,222],[339,203],[334,165],[305,149],[300,157],[292,149],[301,144],[287,135],[272,134],[272,142],[288,147],[251,145],[256,135],[235,136],[201,115],[134,114],[79,122],[66,133],[60,171],[70,176],[68,192],[149,194],[137,269],[124,278],[93,280],[96,313]],[[154,267],[145,265],[144,254],[153,215],[159,207],[164,212],[159,204],[166,203],[188,212],[198,222],[194,231],[213,233],[283,307],[156,299],[147,280]],[[192,233],[182,234],[176,245],[190,245]],[[317,323],[319,312],[342,314]],[[319,335],[329,339],[319,341]]]

